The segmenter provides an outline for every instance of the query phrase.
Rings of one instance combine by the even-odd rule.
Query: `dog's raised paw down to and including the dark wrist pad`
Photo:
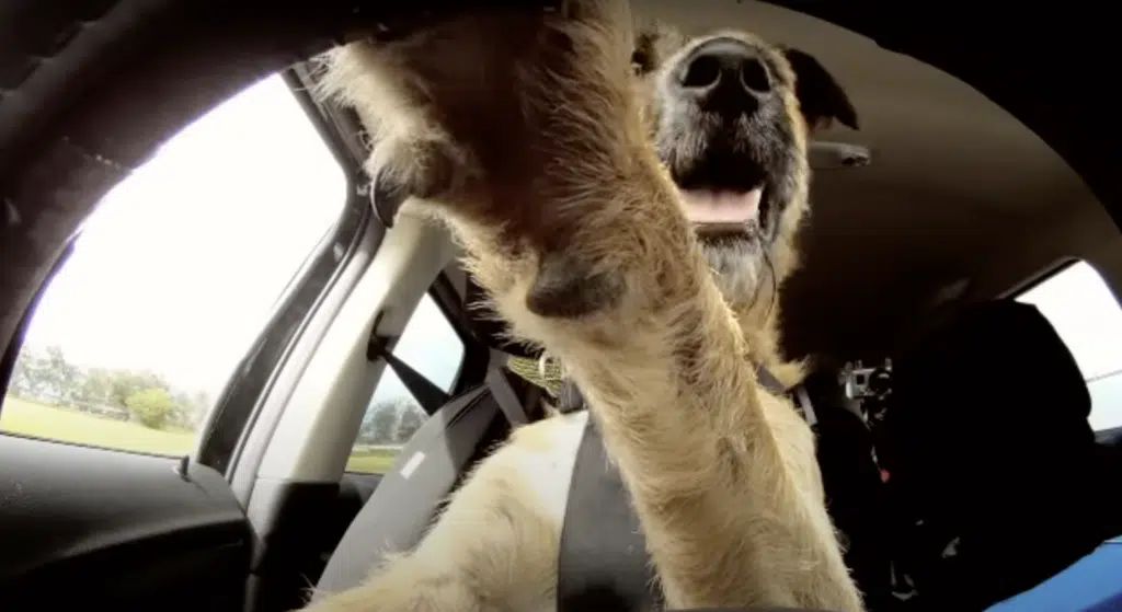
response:
[[[610,208],[644,131],[627,0],[557,3],[351,44],[327,81],[368,128],[384,219],[417,197],[456,228],[482,230],[489,250],[535,253],[526,307],[580,317],[624,293],[620,273],[581,254],[574,237]]]

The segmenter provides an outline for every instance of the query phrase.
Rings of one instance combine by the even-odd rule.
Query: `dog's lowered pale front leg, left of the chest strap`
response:
[[[324,593],[304,612],[550,610],[563,504],[550,503],[557,486],[536,481],[564,477],[553,445],[573,445],[564,441],[579,435],[571,421],[516,430],[466,479],[415,549],[371,568],[356,587]]]

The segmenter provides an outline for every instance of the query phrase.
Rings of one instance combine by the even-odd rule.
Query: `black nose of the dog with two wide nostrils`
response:
[[[682,90],[708,110],[752,114],[772,89],[761,52],[735,38],[714,38],[690,54],[680,73]]]

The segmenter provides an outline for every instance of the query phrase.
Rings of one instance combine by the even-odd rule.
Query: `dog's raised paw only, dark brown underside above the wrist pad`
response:
[[[478,186],[470,177],[540,178],[535,169],[558,152],[543,150],[555,148],[543,131],[585,117],[580,106],[603,89],[595,81],[626,78],[626,0],[553,3],[465,13],[327,57],[323,92],[355,106],[366,124],[367,169],[387,204],[411,195],[456,200],[450,192]],[[625,67],[619,75],[600,69],[614,63]]]

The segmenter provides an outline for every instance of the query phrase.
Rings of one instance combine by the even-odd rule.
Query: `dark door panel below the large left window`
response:
[[[240,610],[251,529],[221,474],[0,437],[3,609]]]

